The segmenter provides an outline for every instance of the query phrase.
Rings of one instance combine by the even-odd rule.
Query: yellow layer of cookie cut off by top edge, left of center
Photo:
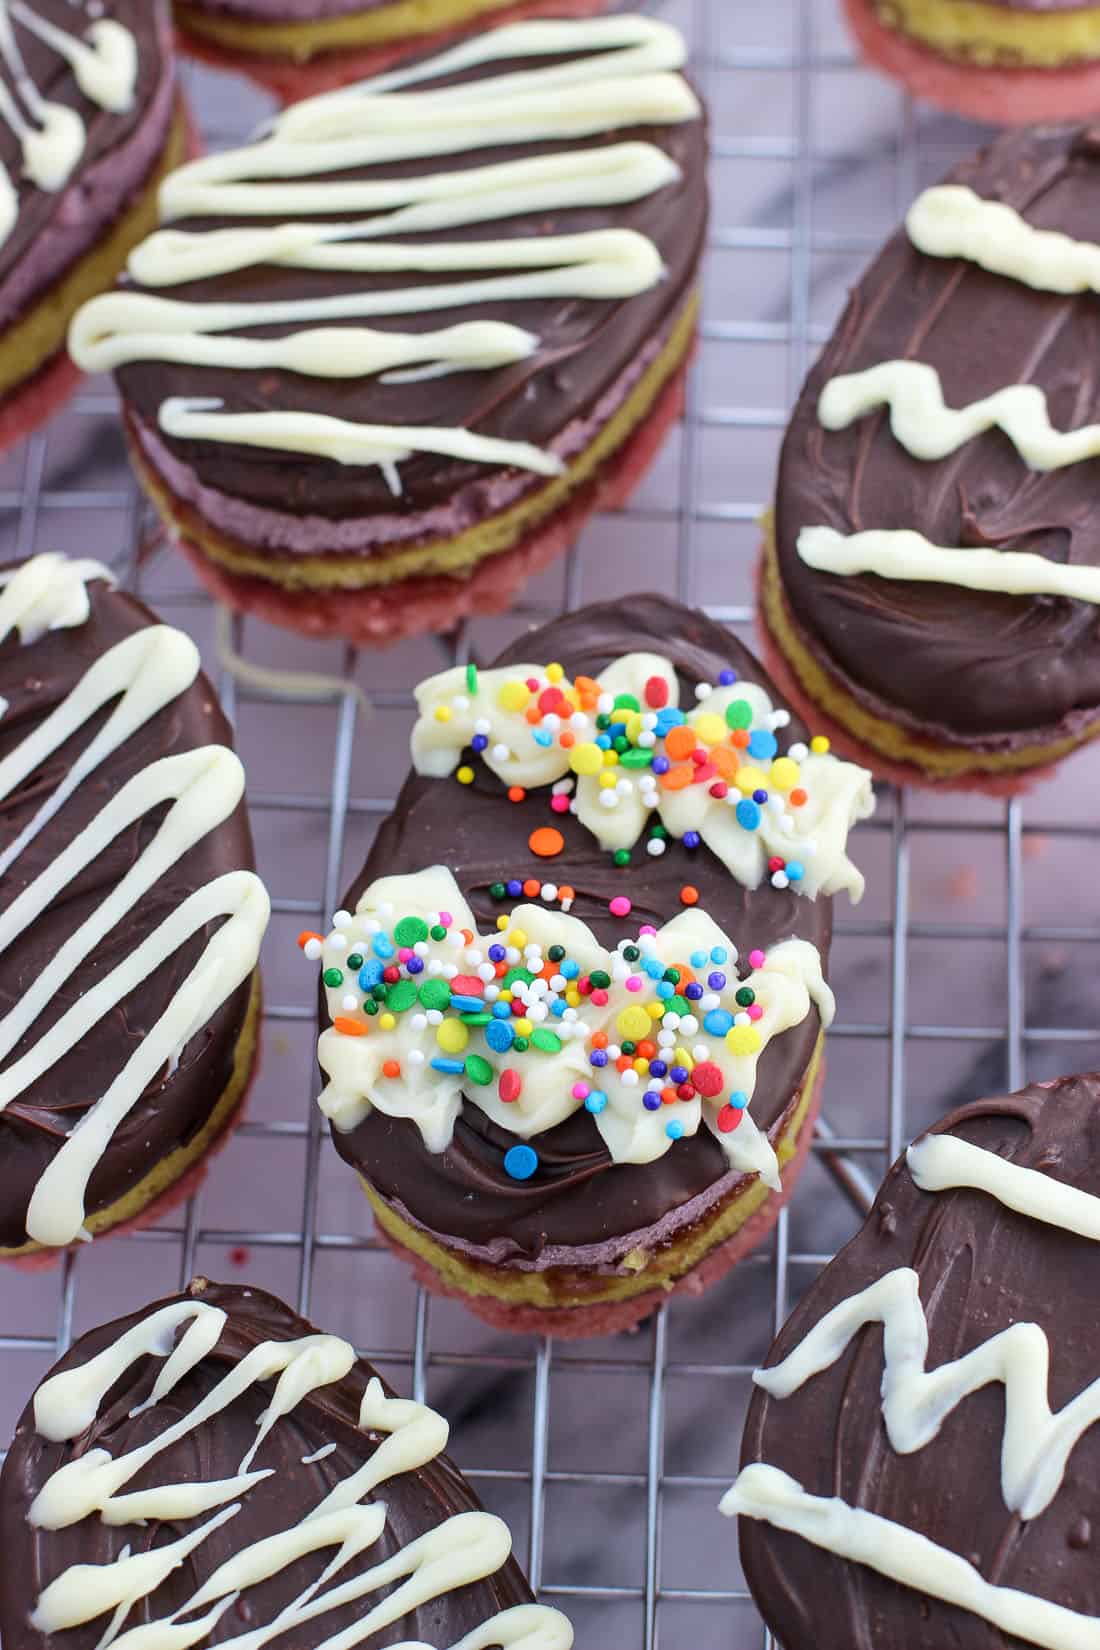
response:
[[[373,12],[350,12],[345,16],[310,18],[302,23],[256,23],[188,5],[176,0],[180,28],[198,40],[208,40],[228,51],[257,53],[264,58],[290,58],[308,63],[327,51],[388,46],[417,35],[437,35],[462,28],[480,16],[503,12],[516,0],[393,0]]]

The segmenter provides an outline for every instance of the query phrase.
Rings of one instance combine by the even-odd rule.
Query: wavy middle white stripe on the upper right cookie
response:
[[[879,406],[889,406],[891,431],[900,446],[925,462],[947,459],[990,429],[1008,436],[1032,470],[1059,470],[1100,454],[1100,424],[1055,429],[1039,384],[1009,384],[953,409],[943,401],[935,366],[924,361],[882,361],[863,373],[830,378],[818,401],[818,419],[826,429],[846,429]]]

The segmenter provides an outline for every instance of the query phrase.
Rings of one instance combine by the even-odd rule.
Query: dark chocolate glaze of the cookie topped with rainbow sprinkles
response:
[[[493,665],[551,662],[567,675],[597,675],[630,652],[663,653],[676,667],[681,703],[693,703],[698,681],[714,681],[732,665],[740,676],[759,681],[772,701],[783,701],[755,658],[737,639],[661,596],[633,596],[602,602],[531,630],[506,648]],[[805,729],[792,718],[792,738]],[[475,780],[460,792],[454,782],[406,779],[394,812],[379,830],[368,861],[343,904],[355,909],[363,889],[378,876],[449,865],[467,896],[480,929],[493,927],[501,908],[488,889],[501,876],[548,878],[548,861],[528,848],[528,837],[551,817],[546,792],[528,792],[511,804],[505,785],[478,761]],[[668,851],[650,858],[633,851],[628,871],[612,863],[595,838],[569,813],[554,815],[566,838],[552,861],[556,883],[577,891],[572,916],[582,917],[600,944],[613,949],[627,931],[607,904],[628,893],[630,922],[670,922],[681,909],[679,889],[693,883],[699,904],[726,931],[742,955],[754,945],[767,950],[782,939],[810,940],[828,960],[831,906],[828,898],[806,899],[765,883],[754,891],[737,883],[709,848],[689,851],[668,842]],[[327,1016],[323,1018],[327,1023]],[[816,1010],[769,1043],[759,1068],[752,1115],[760,1129],[777,1132],[792,1102],[820,1031]],[[594,1119],[585,1110],[538,1137],[539,1173],[528,1181],[505,1173],[501,1147],[513,1137],[491,1124],[467,1097],[447,1152],[430,1153],[421,1130],[407,1119],[373,1110],[350,1134],[333,1130],[340,1155],[363,1173],[384,1198],[397,1201],[424,1226],[475,1244],[493,1242],[500,1261],[536,1259],[546,1246],[595,1244],[651,1226],[689,1198],[727,1178],[722,1148],[706,1129],[676,1142],[653,1163],[613,1163]]]

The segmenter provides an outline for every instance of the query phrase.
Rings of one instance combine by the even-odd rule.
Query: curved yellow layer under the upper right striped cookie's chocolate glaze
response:
[[[839,728],[844,728],[859,744],[877,751],[891,762],[917,767],[928,779],[952,780],[970,774],[990,774],[993,777],[1026,772],[1029,767],[1046,767],[1051,762],[1059,762],[1070,751],[1100,734],[1100,721],[1095,721],[1079,734],[1052,739],[1046,744],[1027,744],[1018,751],[981,751],[966,744],[937,744],[932,739],[922,739],[907,728],[900,728],[897,723],[872,714],[806,648],[787,607],[770,525],[764,540],[760,607],[772,640],[790,665],[806,698]]]

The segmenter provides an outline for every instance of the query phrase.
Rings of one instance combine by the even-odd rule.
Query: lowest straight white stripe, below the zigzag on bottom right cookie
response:
[[[904,1587],[971,1610],[1003,1634],[1042,1650],[1100,1650],[1095,1615],[1080,1615],[1016,1587],[996,1587],[958,1553],[839,1497],[808,1495],[778,1467],[762,1462],[745,1467],[722,1497],[721,1510],[727,1518],[762,1518]]]

